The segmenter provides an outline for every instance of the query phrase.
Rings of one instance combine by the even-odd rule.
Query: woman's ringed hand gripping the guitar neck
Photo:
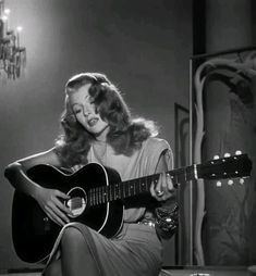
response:
[[[150,193],[157,201],[166,201],[174,196],[174,186],[168,173],[160,173],[157,185],[150,186]]]

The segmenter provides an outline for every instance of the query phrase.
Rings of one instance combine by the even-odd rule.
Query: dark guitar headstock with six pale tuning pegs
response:
[[[236,151],[235,155],[225,153],[223,158],[215,156],[212,160],[197,165],[198,178],[207,180],[229,179],[228,185],[232,185],[231,178],[241,178],[243,184],[246,177],[251,176],[252,161],[247,154]],[[221,186],[221,181],[217,181],[217,186]]]

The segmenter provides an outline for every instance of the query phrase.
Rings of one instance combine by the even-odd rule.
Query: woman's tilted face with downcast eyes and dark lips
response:
[[[71,109],[77,120],[87,131],[93,134],[98,139],[106,139],[109,131],[109,125],[102,121],[99,113],[96,112],[95,104],[92,102],[92,97],[88,93],[90,84],[86,84],[75,92],[69,95]]]

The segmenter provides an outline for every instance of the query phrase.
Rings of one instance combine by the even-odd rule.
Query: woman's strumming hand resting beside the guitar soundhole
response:
[[[39,203],[45,213],[54,223],[60,226],[64,226],[70,222],[68,214],[72,215],[72,213],[59,198],[66,200],[70,197],[60,190],[47,189],[44,187],[39,187],[35,196],[36,201]]]

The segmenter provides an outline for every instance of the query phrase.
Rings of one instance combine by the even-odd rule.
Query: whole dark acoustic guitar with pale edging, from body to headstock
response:
[[[246,154],[211,160],[204,164],[167,172],[175,187],[190,180],[247,177],[252,162]],[[50,165],[36,165],[27,171],[31,179],[45,188],[59,189],[70,196],[63,203],[71,210],[71,222],[80,222],[106,237],[122,227],[123,200],[149,193],[159,174],[121,181],[117,171],[90,163],[74,174],[65,174]],[[19,258],[28,263],[46,260],[61,227],[53,223],[29,196],[14,191],[12,237]]]

